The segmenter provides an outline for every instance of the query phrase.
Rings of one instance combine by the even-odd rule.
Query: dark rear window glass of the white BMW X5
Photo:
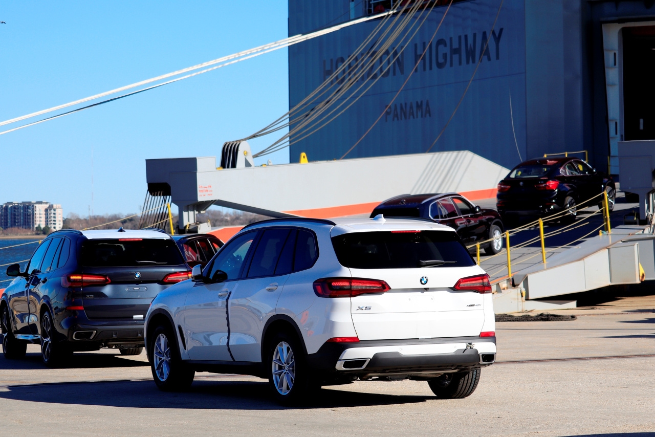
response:
[[[457,234],[450,231],[358,232],[333,237],[332,244],[339,263],[352,269],[475,265]]]

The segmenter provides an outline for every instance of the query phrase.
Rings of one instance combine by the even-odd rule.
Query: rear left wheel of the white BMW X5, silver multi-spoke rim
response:
[[[297,405],[309,398],[312,384],[307,356],[296,335],[276,333],[267,347],[267,374],[272,396],[282,405]]]

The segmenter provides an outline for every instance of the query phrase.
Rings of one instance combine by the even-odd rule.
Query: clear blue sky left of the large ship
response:
[[[286,0],[3,1],[0,120],[287,36]],[[138,212],[145,159],[219,156],[288,110],[287,50],[0,136],[0,203]],[[35,119],[34,119],[35,120]],[[12,124],[6,127],[14,127]],[[253,152],[276,140],[252,140]],[[288,151],[255,160],[289,162]],[[295,159],[293,160],[295,161]]]

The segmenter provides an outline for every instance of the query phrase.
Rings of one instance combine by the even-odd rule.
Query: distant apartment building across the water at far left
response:
[[[49,227],[58,231],[64,227],[64,210],[49,202],[7,202],[0,205],[0,227],[20,227],[35,230]]]

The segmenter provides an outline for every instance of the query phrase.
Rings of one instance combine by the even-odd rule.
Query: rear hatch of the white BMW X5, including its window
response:
[[[390,287],[381,294],[350,298],[360,340],[465,337],[481,332],[483,295],[452,287],[460,278],[483,271],[455,232],[375,231],[332,240],[339,262],[350,268],[353,278],[384,280]]]

